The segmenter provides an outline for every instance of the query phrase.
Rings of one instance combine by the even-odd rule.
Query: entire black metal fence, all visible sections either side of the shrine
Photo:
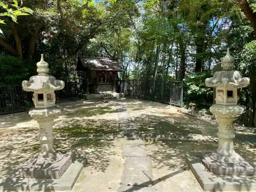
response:
[[[117,80],[117,93],[150,101],[182,107],[182,81]],[[82,83],[68,82],[63,90],[55,91],[56,98],[76,97]],[[21,85],[0,86],[0,115],[24,112],[34,106],[33,93],[22,90]]]

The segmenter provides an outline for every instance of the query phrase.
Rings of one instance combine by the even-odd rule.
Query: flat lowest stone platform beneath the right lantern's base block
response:
[[[202,163],[201,152],[186,154],[186,162],[204,191],[255,191],[256,176],[217,176]]]

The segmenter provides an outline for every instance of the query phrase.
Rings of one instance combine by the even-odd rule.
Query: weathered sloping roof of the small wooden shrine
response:
[[[93,71],[124,71],[117,58],[78,56],[77,70],[80,68],[79,65]]]

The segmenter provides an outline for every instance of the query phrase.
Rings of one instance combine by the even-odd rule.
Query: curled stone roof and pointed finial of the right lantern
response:
[[[207,87],[223,87],[225,89],[235,87],[247,87],[250,84],[250,79],[242,78],[240,71],[232,70],[234,65],[234,57],[229,53],[221,59],[221,67],[223,71],[217,71],[212,78],[207,78],[205,84]]]

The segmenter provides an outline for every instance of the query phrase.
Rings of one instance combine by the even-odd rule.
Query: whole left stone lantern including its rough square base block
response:
[[[55,106],[54,91],[63,89],[65,83],[48,75],[48,63],[44,61],[43,54],[37,63],[37,72],[38,75],[22,82],[22,88],[34,92],[35,107],[30,109],[29,114],[39,124],[41,151],[20,167],[18,172],[23,178],[59,179],[75,159],[74,152],[63,155],[56,153],[53,147],[53,121],[60,114],[60,109]]]

